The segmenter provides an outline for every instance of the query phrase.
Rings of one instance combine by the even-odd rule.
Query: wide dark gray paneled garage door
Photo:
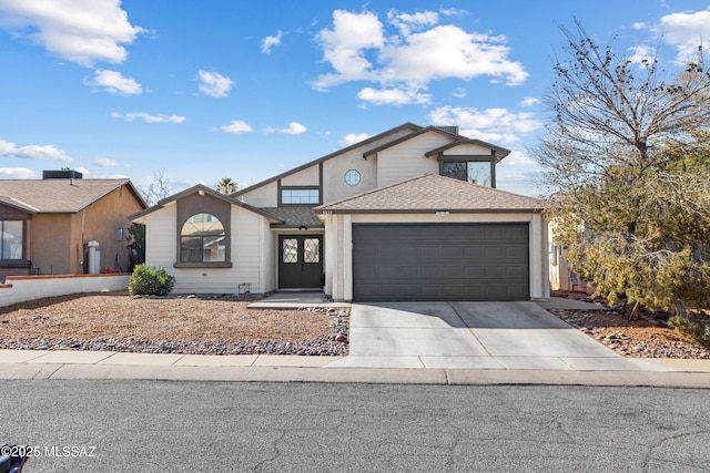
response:
[[[355,300],[527,300],[529,224],[353,225]]]

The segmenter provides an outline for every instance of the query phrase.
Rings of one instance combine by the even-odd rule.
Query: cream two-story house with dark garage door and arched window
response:
[[[199,185],[130,218],[178,292],[545,298],[542,203],[495,188],[508,153],[405,123],[231,196]]]

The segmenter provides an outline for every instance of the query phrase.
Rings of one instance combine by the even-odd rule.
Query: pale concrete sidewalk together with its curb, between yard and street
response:
[[[710,389],[710,360],[643,361],[674,371],[335,368],[341,357],[146,354],[0,350],[0,379],[336,382],[388,384],[575,384]]]

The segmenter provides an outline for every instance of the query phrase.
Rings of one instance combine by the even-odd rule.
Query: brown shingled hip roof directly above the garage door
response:
[[[316,214],[541,212],[544,200],[425,174],[314,208]]]

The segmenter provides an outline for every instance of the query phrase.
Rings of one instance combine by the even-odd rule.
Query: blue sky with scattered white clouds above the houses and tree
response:
[[[671,71],[710,38],[697,0],[0,0],[0,179],[243,188],[413,122],[511,150],[498,187],[536,196],[527,150],[572,16]]]

